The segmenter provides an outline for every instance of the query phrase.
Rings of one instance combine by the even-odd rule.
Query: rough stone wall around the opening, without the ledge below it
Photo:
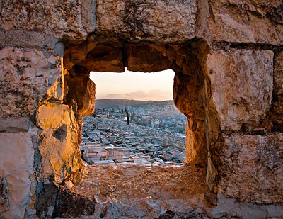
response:
[[[175,71],[186,162],[207,167],[212,196],[282,204],[282,9],[282,0],[1,1],[0,217],[52,216],[57,186],[83,174],[88,74],[125,67]]]

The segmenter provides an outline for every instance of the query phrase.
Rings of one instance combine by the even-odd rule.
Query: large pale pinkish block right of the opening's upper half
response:
[[[214,51],[207,57],[207,72],[221,130],[258,125],[272,100],[273,52]]]

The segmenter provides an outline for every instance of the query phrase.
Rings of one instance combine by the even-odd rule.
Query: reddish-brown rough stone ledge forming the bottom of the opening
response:
[[[96,216],[158,218],[168,213],[205,216],[204,168],[144,167],[135,164],[86,167],[71,191],[95,198]]]

